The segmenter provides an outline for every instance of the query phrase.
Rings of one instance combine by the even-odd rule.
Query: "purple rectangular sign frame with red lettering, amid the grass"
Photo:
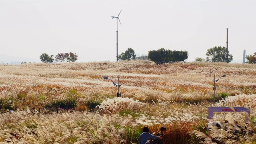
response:
[[[208,119],[213,118],[213,112],[247,112],[250,116],[250,108],[245,107],[234,107],[231,109],[230,107],[208,107]]]

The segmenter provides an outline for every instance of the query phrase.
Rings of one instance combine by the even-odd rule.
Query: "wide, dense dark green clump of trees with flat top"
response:
[[[148,58],[156,64],[163,64],[166,62],[180,62],[188,59],[188,52],[171,51],[160,48],[159,50],[152,50],[148,52]]]

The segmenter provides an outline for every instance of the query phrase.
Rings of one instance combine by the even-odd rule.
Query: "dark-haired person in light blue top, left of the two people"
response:
[[[147,126],[144,126],[142,128],[142,134],[140,134],[140,144],[150,144],[150,138],[163,138],[162,136],[154,136],[148,132],[149,128]]]

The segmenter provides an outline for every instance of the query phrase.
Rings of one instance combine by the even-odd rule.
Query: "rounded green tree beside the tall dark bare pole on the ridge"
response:
[[[214,46],[213,48],[207,50],[206,56],[206,62],[226,62],[226,47]],[[233,56],[228,54],[228,63],[230,63],[232,60]]]

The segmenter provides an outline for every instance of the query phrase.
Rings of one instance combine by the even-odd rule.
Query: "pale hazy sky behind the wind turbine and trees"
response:
[[[208,48],[226,47],[242,62],[256,52],[256,0],[0,0],[0,54],[39,60],[40,54],[78,54],[77,62],[116,61],[165,48],[188,51],[188,62]],[[40,61],[40,60],[39,60]]]

